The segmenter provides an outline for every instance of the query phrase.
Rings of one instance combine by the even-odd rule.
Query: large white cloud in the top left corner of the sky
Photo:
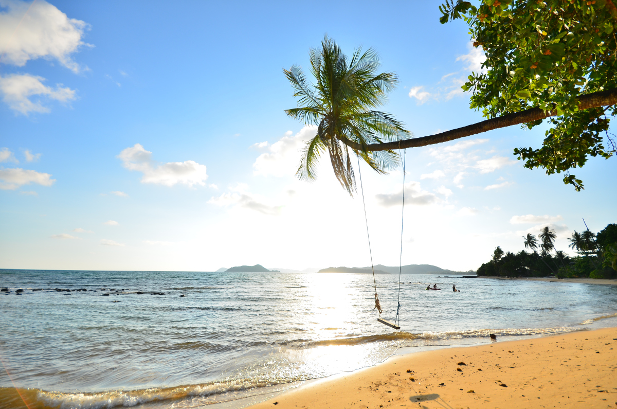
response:
[[[0,0],[0,62],[23,67],[31,59],[55,59],[77,73],[71,54],[81,46],[88,24],[69,19],[44,0]]]

